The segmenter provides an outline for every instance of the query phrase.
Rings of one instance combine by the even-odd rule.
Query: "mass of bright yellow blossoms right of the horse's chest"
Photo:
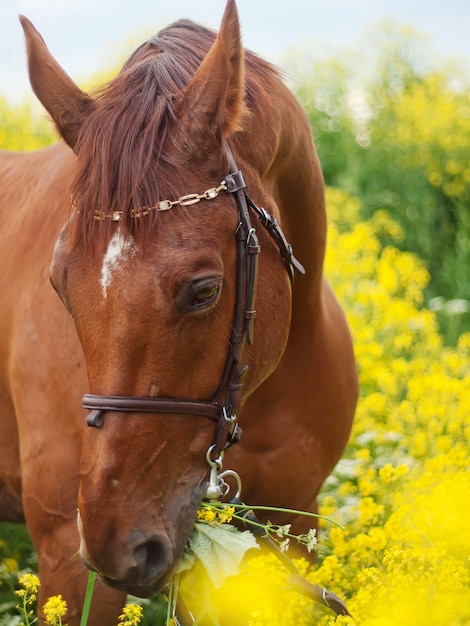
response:
[[[325,555],[308,576],[347,598],[362,626],[463,626],[470,336],[443,347],[422,308],[427,273],[413,255],[380,244],[383,214],[341,232],[335,217],[349,199],[331,190],[329,200],[327,273],[351,324],[362,393],[350,445],[320,502],[345,530],[323,529]],[[387,234],[399,236],[393,227]]]

